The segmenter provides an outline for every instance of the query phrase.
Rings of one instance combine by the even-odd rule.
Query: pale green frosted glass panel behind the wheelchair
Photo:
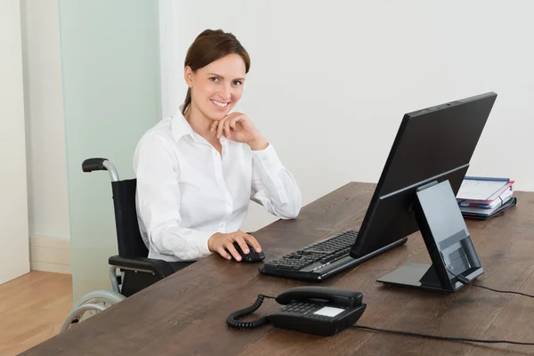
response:
[[[102,157],[134,178],[141,135],[161,115],[158,2],[60,0],[72,279],[75,300],[111,289],[117,237],[109,174],[82,172]]]

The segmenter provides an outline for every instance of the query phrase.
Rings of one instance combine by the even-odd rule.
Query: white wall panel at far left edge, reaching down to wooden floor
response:
[[[20,4],[0,2],[0,284],[29,271]]]

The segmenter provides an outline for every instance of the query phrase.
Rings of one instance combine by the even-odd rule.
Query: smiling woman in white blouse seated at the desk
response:
[[[190,45],[185,102],[142,136],[134,155],[137,214],[149,257],[194,261],[218,253],[237,261],[240,231],[252,199],[282,219],[302,206],[292,174],[252,121],[231,113],[243,93],[248,53],[235,36],[205,30]]]

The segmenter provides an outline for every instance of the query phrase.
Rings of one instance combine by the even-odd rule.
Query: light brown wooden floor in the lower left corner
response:
[[[57,335],[71,308],[69,274],[31,271],[0,285],[0,355],[16,355]]]

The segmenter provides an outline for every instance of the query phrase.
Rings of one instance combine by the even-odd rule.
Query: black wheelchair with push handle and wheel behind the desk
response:
[[[109,279],[113,290],[97,290],[81,297],[63,322],[60,333],[193,263],[172,265],[163,260],[148,258],[149,250],[142,240],[135,209],[136,179],[121,181],[117,169],[106,158],[85,159],[82,170],[85,173],[109,173],[118,255],[109,257]],[[120,270],[118,275],[117,270]]]

